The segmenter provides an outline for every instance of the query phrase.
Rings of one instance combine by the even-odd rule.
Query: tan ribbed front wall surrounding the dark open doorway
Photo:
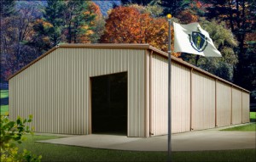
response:
[[[10,117],[33,115],[35,131],[90,133],[90,77],[127,71],[128,136],[144,137],[142,49],[58,48],[9,81]]]

